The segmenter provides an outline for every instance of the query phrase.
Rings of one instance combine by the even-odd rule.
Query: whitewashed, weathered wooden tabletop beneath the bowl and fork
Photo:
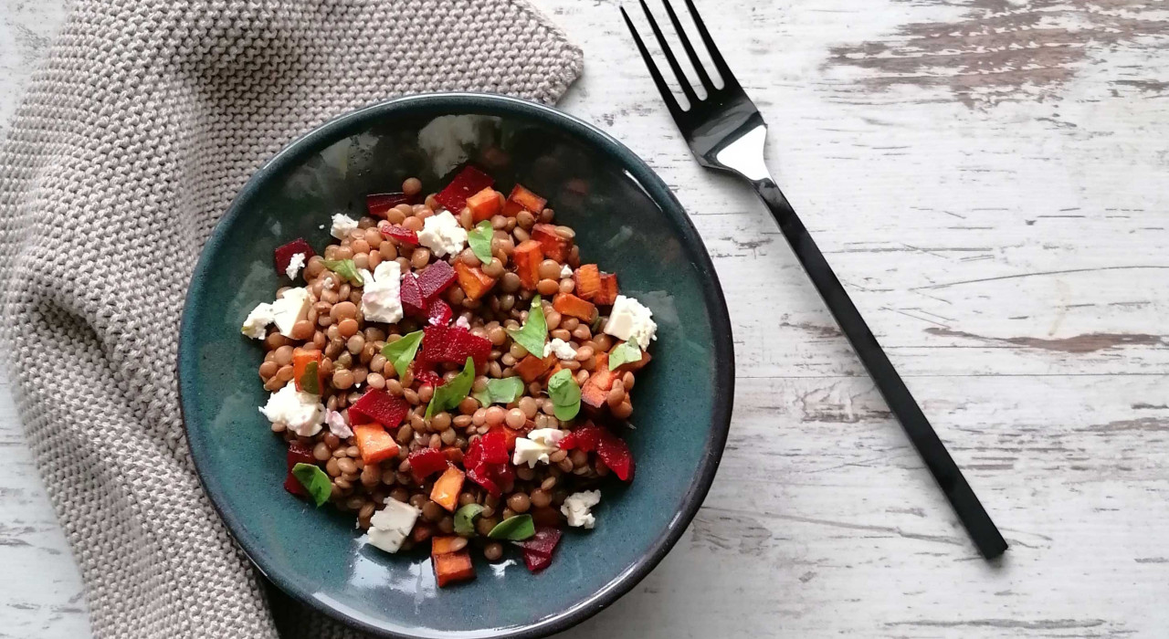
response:
[[[0,0],[4,120],[62,4]],[[693,162],[617,2],[537,4],[586,53],[563,109],[691,211],[738,361],[693,526],[568,634],[1163,637],[1169,2],[700,1],[772,125],[781,185],[1010,542],[999,565],[754,196]],[[83,637],[7,397],[0,446],[0,637]]]

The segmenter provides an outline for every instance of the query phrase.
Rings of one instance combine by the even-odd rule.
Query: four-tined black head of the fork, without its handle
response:
[[[665,100],[666,109],[673,116],[673,121],[678,125],[678,130],[683,137],[686,138],[686,144],[690,145],[690,150],[698,159],[698,162],[710,168],[738,173],[749,180],[765,179],[767,176],[767,167],[763,166],[763,139],[767,125],[763,123],[763,117],[760,116],[759,109],[755,107],[755,103],[747,97],[742,86],[739,85],[739,81],[731,72],[731,68],[727,67],[726,61],[722,58],[722,54],[714,46],[714,40],[711,39],[710,32],[706,30],[706,25],[703,22],[701,16],[698,15],[698,9],[694,8],[693,0],[685,0],[686,8],[690,11],[690,16],[694,21],[694,27],[698,29],[698,35],[706,47],[706,53],[710,55],[714,69],[722,78],[721,88],[715,88],[710,75],[707,75],[703,61],[698,57],[698,53],[686,36],[686,32],[678,20],[678,14],[675,13],[673,7],[670,5],[670,0],[662,0],[662,2],[665,5],[665,11],[670,16],[670,22],[673,25],[673,30],[677,33],[678,40],[682,42],[682,47],[685,49],[686,56],[690,58],[690,63],[698,75],[699,83],[706,91],[705,98],[699,98],[694,92],[693,85],[691,85],[682,65],[678,64],[678,58],[666,42],[662,28],[658,27],[657,20],[653,19],[653,14],[650,13],[650,8],[645,5],[645,0],[638,1],[642,5],[642,11],[645,12],[646,20],[649,20],[650,29],[653,32],[662,53],[665,55],[666,63],[670,65],[670,70],[673,71],[683,96],[686,97],[686,109],[683,109],[678,104],[673,91],[666,84],[665,78],[662,77],[662,72],[658,70],[653,57],[637,33],[637,28],[634,27],[634,22],[629,19],[629,14],[625,13],[624,7],[621,7],[621,15],[625,19],[625,26],[629,27],[629,33],[634,36],[634,42],[637,43],[637,50],[641,51],[642,60],[645,61],[645,67],[649,68],[653,84],[657,85],[658,92],[662,93],[662,99]]]

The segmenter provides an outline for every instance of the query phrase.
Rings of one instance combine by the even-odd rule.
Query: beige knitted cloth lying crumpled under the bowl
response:
[[[96,637],[350,635],[274,621],[195,478],[174,370],[199,250],[334,116],[441,90],[551,103],[581,64],[525,0],[77,0],[0,147],[0,329]]]

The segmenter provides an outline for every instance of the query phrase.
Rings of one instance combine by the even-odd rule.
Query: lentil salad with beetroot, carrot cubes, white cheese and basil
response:
[[[284,487],[388,553],[429,543],[440,586],[473,578],[471,551],[518,547],[538,572],[563,528],[596,525],[596,486],[634,478],[614,424],[656,331],[544,197],[493,187],[466,166],[424,197],[416,178],[368,195],[321,255],[276,250],[292,285],[242,326],[264,346]]]

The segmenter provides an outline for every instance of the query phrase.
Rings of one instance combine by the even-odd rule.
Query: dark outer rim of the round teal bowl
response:
[[[175,376],[179,387],[179,410],[182,418],[182,426],[186,433],[187,445],[191,449],[191,457],[194,461],[195,473],[207,493],[215,512],[223,520],[228,534],[238,543],[244,555],[253,563],[255,569],[265,578],[271,581],[277,588],[291,596],[298,603],[309,605],[350,627],[354,627],[378,637],[393,639],[417,639],[419,634],[403,634],[388,627],[372,625],[364,619],[348,614],[345,610],[334,607],[321,599],[318,599],[306,589],[299,588],[296,579],[290,578],[281,569],[274,569],[278,563],[268,560],[268,553],[263,544],[254,539],[244,528],[242,521],[233,512],[221,508],[222,487],[209,473],[203,472],[206,458],[203,456],[203,442],[200,435],[191,428],[186,416],[186,398],[184,387],[187,384],[184,370],[193,369],[193,355],[188,354],[185,346],[194,339],[192,315],[194,313],[194,293],[203,289],[203,273],[209,264],[209,255],[213,249],[222,244],[228,236],[228,228],[243,214],[243,202],[249,200],[262,183],[265,183],[272,175],[281,173],[295,162],[302,160],[310,152],[317,152],[317,146],[321,143],[340,139],[348,130],[359,125],[373,124],[386,117],[399,113],[426,112],[428,109],[437,111],[440,114],[478,113],[478,114],[519,114],[559,129],[566,130],[574,137],[582,139],[586,144],[600,147],[616,157],[625,171],[648,192],[650,199],[662,209],[663,214],[672,218],[679,231],[680,241],[690,249],[694,258],[694,265],[705,276],[706,285],[703,286],[703,297],[708,310],[712,333],[714,335],[714,380],[715,396],[711,410],[711,428],[704,444],[705,456],[699,463],[698,472],[686,488],[682,498],[680,508],[675,512],[673,518],[664,530],[653,540],[651,546],[625,570],[615,575],[601,589],[593,592],[573,607],[560,611],[555,614],[544,617],[526,625],[509,626],[502,628],[483,628],[480,631],[456,631],[443,633],[449,637],[476,637],[483,639],[538,639],[556,632],[562,632],[572,626],[593,617],[601,610],[608,607],[618,598],[634,589],[650,571],[665,557],[673,546],[682,539],[686,527],[693,520],[701,507],[706,494],[714,481],[715,472],[726,447],[727,435],[731,429],[731,414],[734,401],[734,342],[731,333],[731,318],[727,311],[726,298],[722,294],[722,286],[719,283],[718,273],[711,262],[698,229],[694,228],[686,215],[682,203],[665,182],[642,160],[616,138],[601,131],[596,126],[570,116],[555,107],[544,104],[513,98],[498,93],[478,92],[440,92],[417,93],[400,98],[393,98],[368,106],[364,106],[341,116],[338,116],[313,130],[295,138],[285,145],[271,159],[261,165],[240,192],[231,200],[226,213],[215,223],[206,243],[200,250],[199,261],[192,271],[187,285],[187,292],[182,306],[182,315],[179,326],[179,353],[175,366]],[[192,370],[193,374],[193,370]],[[194,389],[192,389],[193,391]],[[192,393],[193,394],[193,393]]]

